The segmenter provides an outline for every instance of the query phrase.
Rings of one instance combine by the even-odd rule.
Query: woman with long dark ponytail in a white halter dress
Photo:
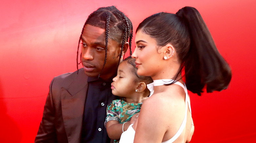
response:
[[[152,77],[154,83],[149,89],[154,91],[144,101],[135,124],[122,134],[120,143],[135,134],[134,130],[135,143],[189,142],[194,124],[187,89],[198,95],[203,88],[207,92],[226,89],[231,80],[230,67],[218,52],[202,16],[192,7],[146,18],[136,30],[135,42],[132,57],[137,73]]]

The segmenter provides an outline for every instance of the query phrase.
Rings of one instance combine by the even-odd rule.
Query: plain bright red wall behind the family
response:
[[[111,5],[128,15],[134,29],[156,12],[197,8],[233,78],[225,91],[202,97],[190,94],[195,123],[191,143],[255,141],[256,1],[130,1],[0,2],[0,142],[33,142],[51,79],[76,70],[77,43],[85,20],[98,7]]]

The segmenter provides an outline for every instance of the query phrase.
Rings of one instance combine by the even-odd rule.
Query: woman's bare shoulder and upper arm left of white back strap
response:
[[[182,96],[173,98],[155,94],[148,98],[141,107],[134,143],[167,141],[179,130],[184,111],[185,102]]]

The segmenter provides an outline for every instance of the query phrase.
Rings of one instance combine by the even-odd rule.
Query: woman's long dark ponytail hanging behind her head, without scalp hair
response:
[[[231,69],[216,48],[214,40],[196,8],[184,7],[177,13],[188,26],[190,48],[185,56],[185,78],[188,90],[201,95],[226,89],[231,80]]]

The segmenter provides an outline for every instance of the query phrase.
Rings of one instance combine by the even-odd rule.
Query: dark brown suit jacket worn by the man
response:
[[[36,143],[80,142],[87,78],[83,69],[53,78]]]

